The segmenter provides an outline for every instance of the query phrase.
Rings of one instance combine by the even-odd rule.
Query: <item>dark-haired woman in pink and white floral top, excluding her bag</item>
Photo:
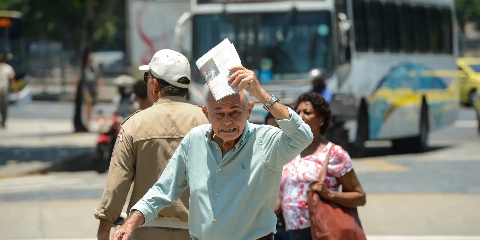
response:
[[[325,139],[332,115],[328,102],[318,93],[304,93],[297,99],[297,113],[312,129],[313,142],[284,166],[280,205],[291,240],[308,240],[312,239],[307,204],[309,188],[324,199],[347,207],[364,205],[366,200],[348,153]],[[325,183],[319,182],[318,175],[332,147]],[[338,192],[340,185],[342,192]]]

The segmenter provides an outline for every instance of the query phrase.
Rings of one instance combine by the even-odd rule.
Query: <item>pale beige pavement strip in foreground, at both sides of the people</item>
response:
[[[479,209],[473,207],[479,197],[369,194],[359,215],[369,240],[480,240]],[[98,199],[0,203],[3,215],[9,216],[0,219],[0,239],[95,239],[98,220],[93,210],[98,203]]]

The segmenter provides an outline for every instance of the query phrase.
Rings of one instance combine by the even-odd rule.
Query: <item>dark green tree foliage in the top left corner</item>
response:
[[[94,0],[95,9],[110,9],[112,1]],[[104,48],[124,48],[124,3],[118,1],[113,14],[102,19],[98,14],[99,24],[94,34],[93,50]],[[24,14],[25,38],[27,42],[59,41],[64,48],[79,53],[85,24],[85,0],[2,0],[0,10],[15,10]],[[113,44],[112,44],[113,43]]]

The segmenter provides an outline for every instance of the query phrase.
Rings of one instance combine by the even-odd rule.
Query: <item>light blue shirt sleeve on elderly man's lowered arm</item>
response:
[[[165,207],[174,204],[180,195],[187,188],[187,151],[189,134],[183,138],[175,153],[170,158],[167,167],[163,171],[158,181],[136,204],[132,206],[133,210],[140,211],[144,217],[145,225],[158,216],[158,212]]]

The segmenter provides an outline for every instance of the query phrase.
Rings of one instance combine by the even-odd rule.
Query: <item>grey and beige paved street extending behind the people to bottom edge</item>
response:
[[[34,103],[11,116],[71,120],[72,104],[50,106]],[[463,109],[454,126],[431,134],[426,153],[393,155],[388,143],[369,143],[370,156],[354,159],[369,240],[480,240],[479,142],[474,112]],[[0,239],[94,238],[105,181],[93,171],[0,180],[0,209],[9,216],[0,220]]]

